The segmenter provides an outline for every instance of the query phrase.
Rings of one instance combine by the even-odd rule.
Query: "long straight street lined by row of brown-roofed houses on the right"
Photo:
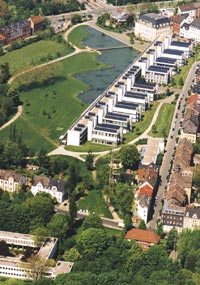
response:
[[[170,161],[172,159],[174,147],[176,146],[176,139],[178,138],[178,130],[180,128],[180,121],[182,119],[182,111],[184,110],[184,104],[185,104],[185,101],[187,100],[188,91],[191,89],[190,87],[195,77],[195,70],[196,70],[197,64],[199,64],[199,62],[194,63],[193,66],[191,67],[188,73],[187,79],[185,81],[185,84],[180,93],[177,104],[176,104],[176,110],[174,112],[174,118],[172,120],[171,130],[169,132],[169,137],[168,137],[167,145],[165,148],[163,162],[160,168],[161,185],[159,186],[158,193],[157,193],[157,206],[155,207],[153,219],[149,221],[148,223],[148,228],[153,229],[153,230],[156,229],[157,221],[160,218],[161,201],[163,198],[165,198],[165,194],[166,194],[167,183],[168,183],[167,175],[170,170]],[[178,109],[179,101],[181,102],[180,109]],[[176,118],[176,113],[178,114],[178,118]],[[174,125],[175,125],[175,130],[173,131],[172,128],[174,127]],[[172,133],[173,133],[173,137],[171,137]]]

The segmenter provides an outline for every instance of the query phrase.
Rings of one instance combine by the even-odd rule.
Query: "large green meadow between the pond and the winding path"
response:
[[[16,126],[22,128],[25,143],[35,151],[45,145],[51,150],[58,144],[58,138],[86,108],[76,96],[89,89],[85,83],[75,79],[73,74],[105,68],[97,62],[96,53],[81,53],[60,62],[58,76],[63,80],[47,87],[23,92],[23,115]],[[9,130],[1,131],[5,137]],[[42,139],[41,139],[42,138]]]

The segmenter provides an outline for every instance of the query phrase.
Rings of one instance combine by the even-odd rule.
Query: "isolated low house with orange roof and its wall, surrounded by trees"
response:
[[[143,250],[160,242],[160,236],[154,232],[140,229],[131,229],[125,235],[127,240],[135,240],[139,243]]]

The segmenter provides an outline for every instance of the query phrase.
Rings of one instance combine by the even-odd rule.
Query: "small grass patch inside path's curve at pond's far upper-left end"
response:
[[[87,38],[90,33],[85,30],[86,25],[81,25],[71,31],[68,35],[68,41],[78,48],[85,48],[83,40]]]

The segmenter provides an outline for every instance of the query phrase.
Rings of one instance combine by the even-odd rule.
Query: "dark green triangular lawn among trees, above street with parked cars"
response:
[[[112,215],[98,190],[88,192],[88,195],[78,201],[78,209],[95,212],[99,216],[112,219]]]

